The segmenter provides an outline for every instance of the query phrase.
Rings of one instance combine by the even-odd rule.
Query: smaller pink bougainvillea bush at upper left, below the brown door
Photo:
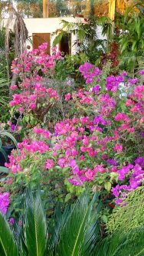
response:
[[[38,49],[25,51],[20,60],[15,59],[11,65],[12,74],[18,77],[17,84],[11,85],[11,115],[19,113],[18,121],[23,120],[29,127],[44,123],[47,113],[55,105],[62,115],[64,90],[69,92],[72,87],[68,86],[72,84],[68,77],[61,84],[56,75],[60,72],[58,63],[64,60],[61,51],[53,48],[52,55],[47,55],[46,49],[47,43],[44,43]]]

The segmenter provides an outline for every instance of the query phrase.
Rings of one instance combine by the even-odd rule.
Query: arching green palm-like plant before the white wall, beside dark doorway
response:
[[[107,38],[110,38],[112,34],[112,22],[110,18],[96,18],[92,16],[82,22],[62,20],[61,23],[62,28],[61,31],[56,31],[57,36],[54,39],[54,45],[58,44],[65,34],[73,33],[77,35],[77,40],[75,41],[75,44],[77,44],[77,52],[86,54],[91,63],[95,63],[97,58],[106,51]],[[107,38],[99,38],[99,26],[102,27],[103,36],[107,36]]]

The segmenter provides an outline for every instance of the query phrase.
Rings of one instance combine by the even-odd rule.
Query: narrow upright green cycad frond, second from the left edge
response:
[[[40,192],[37,192],[36,195],[33,195],[31,191],[26,194],[24,234],[28,255],[44,256],[47,225]]]

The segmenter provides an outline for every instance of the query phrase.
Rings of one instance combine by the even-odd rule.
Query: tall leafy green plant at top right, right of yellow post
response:
[[[124,15],[116,18],[116,26],[119,28],[119,67],[133,74],[139,68],[139,63],[144,62],[144,18],[142,13],[126,9]],[[116,34],[118,36],[118,34]]]

